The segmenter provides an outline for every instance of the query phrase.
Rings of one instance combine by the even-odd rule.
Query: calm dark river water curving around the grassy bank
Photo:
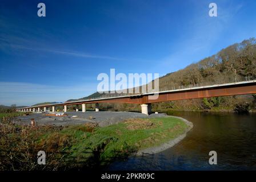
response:
[[[193,122],[180,143],[151,156],[112,163],[110,170],[256,170],[256,114],[169,111]],[[209,151],[218,164],[209,164]]]

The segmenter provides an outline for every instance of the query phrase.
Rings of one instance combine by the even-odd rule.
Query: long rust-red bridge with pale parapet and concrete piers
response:
[[[207,98],[220,96],[235,96],[244,94],[256,94],[256,80],[231,82],[227,84],[195,86],[191,88],[171,89],[159,92],[141,93],[125,96],[113,96],[105,98],[92,98],[87,100],[76,100],[58,104],[47,104],[40,106],[29,106],[17,109],[17,111],[46,111],[50,107],[55,112],[55,106],[63,106],[67,112],[67,106],[82,105],[82,112],[86,112],[86,104],[95,104],[95,111],[99,111],[99,103],[128,103],[139,104],[143,114],[151,113],[151,103],[175,100],[186,100],[192,98]]]

